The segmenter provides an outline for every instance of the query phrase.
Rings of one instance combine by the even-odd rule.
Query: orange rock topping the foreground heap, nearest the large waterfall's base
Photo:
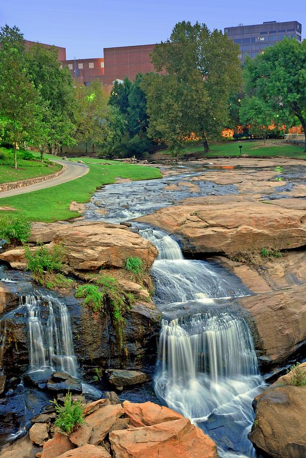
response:
[[[134,404],[125,401],[123,407],[125,415],[130,419],[130,424],[137,427],[184,418],[174,410],[168,409],[168,407],[158,406],[150,402]]]

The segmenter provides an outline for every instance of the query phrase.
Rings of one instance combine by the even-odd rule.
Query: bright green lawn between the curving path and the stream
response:
[[[95,158],[82,158],[82,161],[89,165],[89,172],[77,180],[40,191],[0,198],[0,207],[16,209],[14,212],[2,211],[0,216],[22,215],[31,221],[45,222],[70,219],[79,216],[79,213],[69,210],[72,201],[88,202],[99,186],[115,183],[118,177],[136,181],[162,176],[155,167]],[[107,165],[103,164],[105,162]]]

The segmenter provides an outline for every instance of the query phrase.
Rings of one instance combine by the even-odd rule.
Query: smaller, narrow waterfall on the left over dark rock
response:
[[[70,316],[66,305],[50,296],[25,296],[30,371],[50,366],[77,375]]]

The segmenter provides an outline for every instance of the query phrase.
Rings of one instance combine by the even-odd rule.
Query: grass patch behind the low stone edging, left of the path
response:
[[[11,153],[10,153],[11,151]],[[27,153],[27,152],[26,152]],[[0,148],[0,183],[26,180],[27,178],[42,177],[43,175],[53,174],[62,167],[59,164],[46,164],[36,160],[24,160],[21,158],[22,152],[17,153],[17,166],[14,168],[13,150]],[[38,154],[36,155],[38,158]]]

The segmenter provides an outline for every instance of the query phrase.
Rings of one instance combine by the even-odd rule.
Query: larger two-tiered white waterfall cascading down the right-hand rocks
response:
[[[165,319],[157,395],[209,434],[221,456],[254,455],[247,434],[262,378],[249,326],[227,300],[248,290],[217,266],[183,259],[177,242],[162,231],[140,233],[159,249],[152,274]]]

